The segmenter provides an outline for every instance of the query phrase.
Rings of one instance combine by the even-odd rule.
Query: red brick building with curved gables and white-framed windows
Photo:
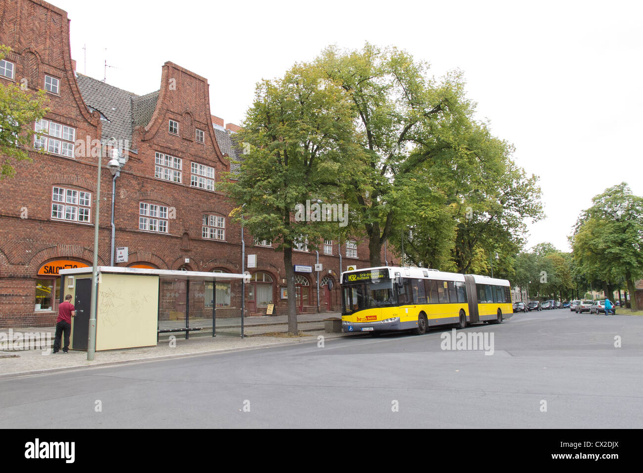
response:
[[[11,46],[13,77],[46,89],[51,111],[35,124],[46,136],[0,185],[0,327],[51,326],[60,299],[62,267],[91,266],[97,167],[96,140],[114,138],[127,156],[114,181],[114,246],[127,246],[127,263],[201,272],[241,271],[241,228],[217,183],[230,170],[230,134],[210,111],[208,81],[172,62],[161,68],[160,88],[138,96],[74,71],[66,12],[39,0],[0,0],[0,43]],[[11,68],[11,66],[9,66]],[[6,68],[5,68],[6,70]],[[95,143],[93,143],[95,142]],[[93,154],[93,155],[92,155]],[[113,177],[103,159],[98,264],[111,259]],[[257,255],[246,285],[247,313],[285,310],[283,254],[244,235]],[[319,248],[320,310],[338,310],[342,266],[368,266],[368,245],[338,241]],[[393,264],[389,256],[389,261]],[[302,247],[293,263],[300,311],[316,311],[316,253]],[[327,281],[333,281],[332,291]],[[185,310],[185,283],[164,283],[161,319]],[[181,285],[183,284],[183,285]],[[212,284],[190,286],[190,318],[212,312]],[[216,284],[217,315],[239,316],[240,283]]]

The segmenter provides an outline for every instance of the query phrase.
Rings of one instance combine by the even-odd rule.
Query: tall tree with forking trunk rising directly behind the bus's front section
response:
[[[357,207],[370,264],[379,266],[385,241],[397,238],[418,215],[416,196],[430,185],[418,178],[422,165],[454,145],[448,142],[449,126],[469,107],[462,80],[451,73],[437,83],[427,77],[428,64],[397,48],[368,43],[344,52],[331,46],[317,64],[350,98],[356,144],[364,153],[350,160],[353,178],[346,197]],[[434,153],[414,154],[421,146]]]

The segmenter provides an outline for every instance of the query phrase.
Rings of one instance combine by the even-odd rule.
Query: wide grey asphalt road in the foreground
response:
[[[445,331],[5,379],[0,427],[643,425],[643,317],[561,309],[457,331],[493,333],[493,355],[443,350]]]

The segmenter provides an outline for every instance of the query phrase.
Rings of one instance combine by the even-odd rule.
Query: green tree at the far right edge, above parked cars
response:
[[[624,278],[637,310],[634,281],[643,275],[643,198],[626,183],[592,199],[571,237],[574,259],[590,277],[617,283]]]

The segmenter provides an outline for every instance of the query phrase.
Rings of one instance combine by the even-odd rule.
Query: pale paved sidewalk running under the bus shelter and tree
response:
[[[64,371],[79,367],[108,366],[114,364],[123,364],[131,362],[141,362],[168,358],[187,357],[190,355],[203,355],[205,353],[222,353],[226,351],[264,348],[267,346],[284,346],[291,344],[300,344],[306,342],[318,342],[318,337],[322,335],[324,339],[343,337],[345,333],[325,333],[323,330],[323,319],[333,314],[305,314],[305,316],[316,315],[318,320],[307,320],[298,323],[299,331],[306,331],[305,335],[300,337],[269,337],[264,333],[275,333],[287,331],[287,324],[281,320],[275,320],[273,323],[248,324],[246,337],[240,337],[240,331],[236,336],[223,335],[219,333],[219,320],[217,320],[217,337],[212,337],[212,331],[208,331],[208,336],[195,337],[195,333],[190,333],[190,339],[183,339],[183,333],[174,333],[176,339],[170,342],[169,337],[165,340],[159,340],[157,346],[144,348],[127,348],[109,351],[98,351],[93,361],[87,361],[87,352],[69,350],[69,353],[51,353],[51,350],[42,351],[0,351],[0,378],[18,376],[18,375],[35,375],[41,373],[52,373],[55,371]],[[320,317],[322,316],[322,317]],[[252,317],[252,319],[277,319],[278,317]],[[306,317],[309,318],[309,317]],[[246,319],[248,320],[248,319]],[[279,323],[281,322],[281,323]],[[190,324],[192,326],[192,324]],[[8,329],[0,329],[8,330]],[[55,328],[24,328],[14,329],[15,331],[51,331]],[[52,335],[53,336],[53,335]]]

